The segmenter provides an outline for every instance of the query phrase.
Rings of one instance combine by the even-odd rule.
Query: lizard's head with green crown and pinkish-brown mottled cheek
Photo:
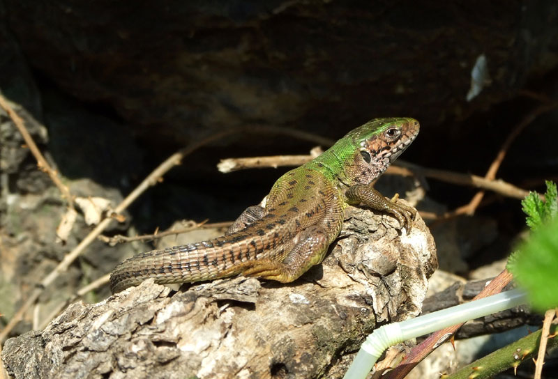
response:
[[[380,176],[411,143],[420,125],[414,118],[376,118],[349,132],[357,153],[352,167],[356,183]]]

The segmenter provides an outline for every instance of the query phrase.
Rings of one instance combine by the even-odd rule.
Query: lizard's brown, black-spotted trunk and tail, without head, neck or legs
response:
[[[330,180],[298,167],[273,185],[261,219],[236,233],[128,258],[111,274],[112,292],[150,277],[160,284],[204,281],[240,274],[250,261],[281,261],[312,224],[323,225],[331,243],[341,228],[342,208],[342,194]]]

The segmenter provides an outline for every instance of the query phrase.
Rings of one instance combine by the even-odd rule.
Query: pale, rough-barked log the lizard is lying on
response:
[[[416,316],[437,267],[422,219],[409,234],[349,208],[322,265],[293,284],[243,277],[174,293],[145,281],[72,304],[6,342],[15,378],[339,378],[378,323]]]

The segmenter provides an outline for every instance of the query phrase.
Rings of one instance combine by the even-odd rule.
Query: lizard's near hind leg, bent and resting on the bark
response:
[[[329,238],[322,226],[312,225],[300,232],[296,244],[282,261],[270,258],[250,262],[250,267],[243,270],[246,277],[261,277],[289,283],[298,279],[313,265],[324,258],[329,246]]]

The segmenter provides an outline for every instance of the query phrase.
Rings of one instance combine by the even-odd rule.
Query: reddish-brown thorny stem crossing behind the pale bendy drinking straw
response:
[[[502,289],[511,282],[511,279],[513,279],[513,277],[507,270],[502,271],[497,277],[492,279],[490,284],[488,284],[481,293],[478,293],[473,300],[482,299],[483,297],[502,292]],[[432,353],[432,350],[447,341],[461,325],[463,324],[446,327],[445,329],[432,333],[430,337],[415,346],[395,369],[386,374],[385,378],[405,378],[414,366],[421,362],[428,354]]]

